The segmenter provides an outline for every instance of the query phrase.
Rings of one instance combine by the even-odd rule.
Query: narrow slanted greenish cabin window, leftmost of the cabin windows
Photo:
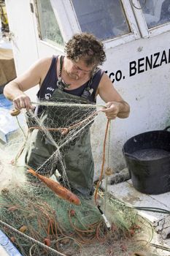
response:
[[[63,45],[63,37],[50,0],[36,0],[36,12],[38,12],[39,37],[52,45]]]

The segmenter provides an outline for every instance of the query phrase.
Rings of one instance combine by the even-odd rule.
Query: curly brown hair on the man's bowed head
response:
[[[64,50],[68,59],[76,62],[83,59],[87,67],[101,65],[106,60],[103,43],[89,33],[74,34],[66,43]]]

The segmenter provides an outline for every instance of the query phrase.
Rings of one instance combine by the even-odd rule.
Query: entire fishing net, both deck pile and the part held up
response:
[[[36,172],[51,176],[56,182],[62,175],[62,185],[74,192],[66,175],[63,155],[81,140],[98,116],[94,105],[38,104],[45,113],[50,113],[50,118],[27,113],[28,129],[22,127],[18,138],[4,148],[6,157],[0,157],[1,176],[6,173],[7,178],[0,194],[1,230],[23,256],[118,256],[132,255],[136,249],[147,252],[152,227],[107,191],[102,192],[97,186],[95,198],[77,194],[81,203],[75,205],[58,197],[38,178],[28,175],[24,154],[31,146],[32,132],[40,131],[42,138],[53,147],[53,154],[37,165]],[[106,149],[109,150],[109,144],[104,151]],[[104,159],[102,167],[104,169]]]

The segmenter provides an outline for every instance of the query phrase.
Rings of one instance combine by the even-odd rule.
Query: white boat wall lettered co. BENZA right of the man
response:
[[[125,79],[120,82],[115,81],[115,88],[131,106],[128,118],[117,118],[112,121],[110,165],[115,169],[119,168],[124,161],[122,147],[128,138],[149,130],[164,129],[170,124],[170,65],[162,64],[161,67],[129,76],[131,61],[137,61],[158,52],[162,54],[163,50],[169,53],[169,36],[170,33],[167,33],[156,38],[138,39],[107,50],[104,69],[108,70],[108,73],[117,70],[123,72]],[[139,51],[139,48],[142,50]],[[101,103],[100,99],[98,99],[99,103]],[[101,139],[104,138],[106,123],[106,119],[98,118],[96,127],[93,129],[94,154],[98,169],[101,166],[98,163],[101,162]]]

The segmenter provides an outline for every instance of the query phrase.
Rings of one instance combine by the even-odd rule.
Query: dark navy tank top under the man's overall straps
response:
[[[58,56],[53,56],[53,59],[51,61],[50,69],[47,72],[47,75],[45,76],[44,81],[42,82],[42,86],[39,89],[37,93],[37,97],[39,100],[50,100],[50,97],[52,96],[55,89],[58,89],[58,75],[57,75],[57,59]],[[98,84],[100,83],[101,77],[104,74],[104,70],[97,69],[95,75],[93,75],[93,78],[90,80],[90,89],[93,89],[93,93],[90,94],[88,97],[90,102],[96,102],[96,90],[98,89]],[[78,87],[77,89],[72,90],[66,90],[63,89],[64,92],[67,94],[72,94],[76,96],[82,96],[85,89],[89,86],[89,80],[88,82],[84,83],[82,86]],[[39,112],[39,110],[36,110],[36,113]],[[40,111],[41,112],[41,111]]]

